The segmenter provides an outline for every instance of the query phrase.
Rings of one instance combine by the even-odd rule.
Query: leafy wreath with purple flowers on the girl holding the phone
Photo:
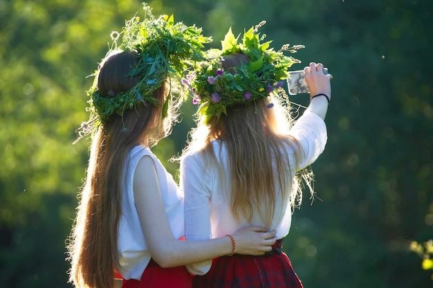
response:
[[[297,52],[303,45],[285,44],[278,51],[269,48],[272,41],[264,40],[266,35],[259,35],[257,30],[266,21],[243,32],[242,43],[234,37],[230,28],[221,41],[222,49],[208,52],[208,60],[194,68],[192,73],[182,79],[190,88],[193,103],[199,104],[197,114],[205,115],[204,123],[221,113],[227,115],[227,107],[238,104],[255,104],[258,99],[266,98],[270,93],[283,89],[284,79],[288,77],[288,68],[300,60],[288,57],[284,51]],[[250,58],[250,62],[241,64],[233,75],[221,68],[224,55],[241,52]],[[270,104],[272,106],[272,104]]]

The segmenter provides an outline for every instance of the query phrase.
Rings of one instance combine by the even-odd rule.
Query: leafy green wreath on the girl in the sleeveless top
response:
[[[75,142],[85,135],[95,133],[100,124],[111,115],[123,116],[126,110],[136,109],[142,104],[160,105],[153,97],[154,91],[167,79],[171,85],[176,85],[176,81],[172,81],[171,77],[180,79],[194,61],[203,60],[203,44],[209,43],[212,38],[201,35],[201,28],[185,26],[181,22],[174,23],[173,15],[160,15],[155,18],[146,3],[143,3],[143,10],[143,21],[135,16],[125,21],[121,33],[111,32],[113,44],[105,56],[108,57],[115,50],[136,50],[138,61],[127,77],[138,77],[138,83],[126,92],[116,94],[110,90],[108,95],[100,95],[95,78],[93,86],[86,91],[89,96],[86,111],[90,112],[90,117],[77,129],[80,137]],[[121,34],[122,44],[118,46],[117,41]],[[97,75],[98,70],[92,74]],[[163,106],[163,117],[167,116],[168,104],[169,97]],[[124,129],[127,130],[125,127]]]

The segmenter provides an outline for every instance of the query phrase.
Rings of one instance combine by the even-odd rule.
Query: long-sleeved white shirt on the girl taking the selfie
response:
[[[290,131],[300,143],[304,150],[305,158],[298,163],[297,167],[291,166],[292,175],[286,175],[286,180],[291,179],[296,171],[312,164],[324,151],[327,140],[326,125],[322,118],[314,113],[306,111],[302,117],[297,119]],[[216,160],[224,171],[229,171],[228,155],[224,144],[219,141],[212,142]],[[293,149],[286,146],[289,161],[293,164]],[[181,161],[181,188],[185,193],[185,238],[187,240],[205,240],[210,238],[223,237],[226,234],[234,233],[242,227],[257,225],[266,227],[258,213],[255,213],[252,220],[240,218],[235,220],[232,215],[230,203],[226,197],[230,191],[230,177],[225,177],[221,182],[216,166],[205,164],[201,153],[191,153]],[[279,189],[279,184],[275,186]],[[279,195],[281,193],[277,193]],[[288,203],[290,193],[286,193],[286,199],[276,199],[274,218],[269,229],[277,231],[277,239],[288,234],[291,227],[291,205]],[[187,269],[196,275],[207,273],[212,260],[200,262],[194,265],[187,265]]]

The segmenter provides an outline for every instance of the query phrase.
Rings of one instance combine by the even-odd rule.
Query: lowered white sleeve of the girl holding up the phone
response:
[[[211,238],[210,189],[211,182],[205,175],[200,155],[188,155],[181,161],[181,189],[185,195],[185,239],[208,240]],[[212,260],[187,265],[194,275],[208,273]]]

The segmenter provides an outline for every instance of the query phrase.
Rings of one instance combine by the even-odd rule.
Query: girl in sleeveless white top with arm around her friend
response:
[[[127,21],[122,45],[104,57],[88,91],[89,167],[68,244],[75,287],[191,286],[185,266],[230,253],[270,251],[275,233],[248,227],[208,241],[181,241],[183,194],[151,152],[169,135],[181,97],[172,97],[175,76],[201,55],[208,41],[199,28],[146,18]]]

